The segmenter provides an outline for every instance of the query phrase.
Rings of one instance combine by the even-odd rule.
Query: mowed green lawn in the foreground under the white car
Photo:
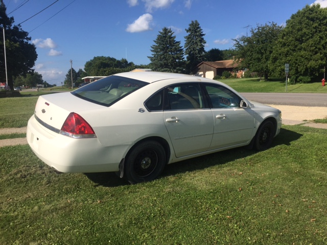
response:
[[[171,164],[136,185],[0,148],[0,244],[325,244],[326,137],[284,126],[267,151]]]

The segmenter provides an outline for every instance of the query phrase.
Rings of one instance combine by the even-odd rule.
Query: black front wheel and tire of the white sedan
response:
[[[265,151],[270,148],[275,135],[275,127],[271,121],[264,121],[255,134],[254,148]]]

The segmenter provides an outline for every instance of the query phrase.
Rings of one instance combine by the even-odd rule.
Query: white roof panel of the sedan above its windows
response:
[[[114,76],[136,79],[148,83],[154,83],[157,81],[168,80],[168,79],[188,79],[190,82],[193,81],[199,82],[201,80],[210,81],[206,78],[202,78],[198,76],[170,73],[170,72],[159,72],[159,71],[123,72],[123,73],[115,74]]]

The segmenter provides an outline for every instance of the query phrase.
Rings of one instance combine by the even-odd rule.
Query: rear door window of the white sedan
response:
[[[166,88],[166,92],[171,110],[204,108],[199,84],[176,84]]]

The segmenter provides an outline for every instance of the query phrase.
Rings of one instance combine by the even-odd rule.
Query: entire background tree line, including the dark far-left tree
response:
[[[14,26],[14,18],[8,17],[1,1],[0,28],[6,35],[8,85],[20,84],[31,87],[37,84],[53,86],[42,79],[32,67],[37,59],[36,47],[29,43],[31,38],[21,27]],[[86,76],[109,76],[136,68],[150,68],[156,71],[193,74],[202,61],[219,61],[235,58],[238,69],[247,69],[268,80],[269,77],[285,77],[285,64],[289,64],[289,78],[292,83],[316,81],[325,71],[327,57],[327,9],[320,5],[307,5],[292,14],[285,26],[274,22],[257,24],[250,29],[250,35],[233,39],[235,44],[229,50],[212,48],[205,51],[205,34],[197,20],[192,20],[185,29],[184,47],[176,40],[174,32],[167,27],[159,31],[151,45],[150,63],[135,65],[126,59],[94,57],[85,63],[84,69],[69,69],[63,83],[71,86],[72,75],[75,86]],[[6,78],[4,43],[0,41],[0,81]]]

